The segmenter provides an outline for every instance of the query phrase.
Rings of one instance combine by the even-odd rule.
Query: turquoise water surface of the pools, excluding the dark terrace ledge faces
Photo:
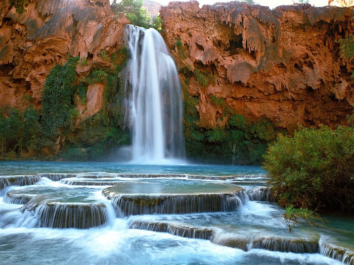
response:
[[[0,176],[39,173],[86,173],[73,177],[62,176],[60,181],[46,177],[34,185],[11,186],[6,192],[15,195],[50,195],[58,203],[102,203],[107,223],[90,229],[38,227],[34,211],[23,205],[6,203],[0,197],[0,260],[1,264],[343,264],[317,253],[294,253],[253,248],[259,238],[307,240],[333,244],[342,249],[354,249],[354,218],[327,215],[325,227],[297,225],[293,233],[282,219],[283,208],[272,202],[246,200],[237,210],[214,213],[171,215],[137,215],[118,218],[102,190],[111,183],[122,185],[126,192],[159,193],[172,190],[179,193],[217,192],[240,186],[245,190],[267,185],[267,174],[260,167],[178,165],[146,166],[117,163],[68,162],[0,162]],[[114,174],[112,174],[114,173]],[[188,180],[186,178],[121,178],[115,174],[191,174],[201,176],[259,175],[259,178],[228,180]],[[96,176],[97,178],[91,178]],[[100,177],[101,176],[101,177]],[[1,178],[1,177],[0,177]],[[85,185],[68,185],[69,180]],[[94,185],[101,182],[101,186]],[[145,184],[143,184],[145,183]],[[188,185],[185,185],[188,183]],[[87,185],[89,184],[89,185]],[[196,189],[193,189],[195,184]],[[161,187],[163,189],[161,190]],[[151,191],[149,191],[149,189]],[[4,194],[5,194],[4,193]],[[29,202],[30,204],[30,202]],[[180,230],[205,228],[212,231],[210,239],[186,238],[178,234],[132,229],[132,224],[166,224]],[[157,226],[158,227],[158,226]],[[245,249],[228,247],[230,240],[243,240]],[[284,242],[285,242],[284,241]],[[320,246],[319,246],[320,248]],[[349,263],[352,264],[352,263]]]

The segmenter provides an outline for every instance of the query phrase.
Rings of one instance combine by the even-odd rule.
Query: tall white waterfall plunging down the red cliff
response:
[[[125,92],[132,160],[164,164],[185,157],[181,85],[173,59],[155,29],[125,28],[130,60]]]

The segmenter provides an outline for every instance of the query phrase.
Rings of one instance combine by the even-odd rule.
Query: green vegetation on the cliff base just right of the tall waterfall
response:
[[[206,129],[199,126],[196,105],[199,98],[190,96],[184,88],[184,126],[186,154],[201,163],[259,165],[269,142],[276,138],[273,125],[263,119],[249,122],[234,114],[222,98],[211,96],[213,104],[224,108],[225,128]]]

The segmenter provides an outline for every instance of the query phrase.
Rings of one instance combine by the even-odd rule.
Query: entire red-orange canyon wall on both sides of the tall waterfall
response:
[[[68,55],[80,57],[81,79],[110,67],[103,52],[121,47],[128,23],[114,16],[108,0],[30,1],[21,15],[2,1],[0,10],[0,108],[23,110],[30,98],[40,110],[48,74]],[[341,124],[350,114],[354,65],[341,57],[337,41],[354,32],[352,8],[270,10],[239,2],[199,8],[191,1],[172,2],[160,13],[184,88],[196,99],[198,126],[223,128],[233,113],[292,131],[298,124]],[[80,107],[87,115],[102,108],[103,90],[89,87]]]

